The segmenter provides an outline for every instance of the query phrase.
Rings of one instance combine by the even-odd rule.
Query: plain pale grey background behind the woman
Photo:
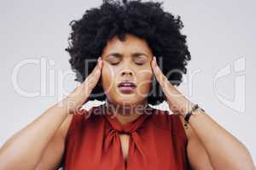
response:
[[[64,51],[70,32],[68,23],[79,19],[86,9],[100,4],[101,1],[1,1],[0,145],[61,99],[63,91],[60,89],[68,94],[77,85],[73,74],[58,80],[59,73],[70,72],[69,56]],[[182,17],[183,33],[188,36],[192,54],[188,69],[196,73],[192,79],[185,76],[187,81],[179,89],[245,144],[256,161],[253,11],[256,2],[179,0],[165,1],[163,6]],[[45,89],[45,94],[42,91],[37,96],[27,97],[15,88],[12,74],[26,59],[45,59],[46,79],[40,76],[42,65],[27,64],[15,75],[19,87],[28,92]],[[217,81],[216,75],[222,71],[225,74],[226,66],[230,74]],[[55,75],[53,81],[49,74]],[[85,107],[91,105],[97,103],[90,102]],[[166,104],[156,107],[167,109]]]

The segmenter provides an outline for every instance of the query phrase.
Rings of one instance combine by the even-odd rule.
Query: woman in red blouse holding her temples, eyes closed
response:
[[[255,169],[247,148],[174,87],[190,59],[181,20],[161,3],[123,3],[72,22],[67,52],[82,83],[3,145],[0,169]],[[106,103],[81,109],[90,99]],[[174,114],[149,106],[164,100]]]

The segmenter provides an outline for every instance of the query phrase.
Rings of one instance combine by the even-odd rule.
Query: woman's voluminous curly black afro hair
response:
[[[114,36],[125,41],[125,33],[130,33],[148,42],[158,62],[161,59],[163,73],[172,85],[179,86],[183,74],[187,73],[186,65],[191,56],[186,36],[181,33],[183,22],[180,16],[165,12],[162,3],[103,0],[100,8],[87,9],[80,20],[72,20],[69,23],[72,31],[65,50],[71,56],[69,63],[76,72],[75,81],[84,82],[96,65],[95,62],[85,68],[85,59],[96,60]],[[148,94],[148,104],[158,105],[165,100],[165,95],[155,79],[153,83]],[[99,83],[89,99],[106,99]]]

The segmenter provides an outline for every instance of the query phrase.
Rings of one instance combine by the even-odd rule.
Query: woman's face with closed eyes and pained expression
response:
[[[143,39],[126,34],[125,42],[113,37],[102,51],[102,88],[115,105],[139,105],[147,101],[153,71],[153,54]],[[120,82],[132,83],[119,84]],[[127,87],[128,86],[128,87]]]

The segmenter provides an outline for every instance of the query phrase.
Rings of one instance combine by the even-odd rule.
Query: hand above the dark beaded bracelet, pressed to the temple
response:
[[[171,82],[168,81],[167,77],[160,70],[159,65],[157,65],[155,57],[153,57],[151,61],[151,67],[156,80],[160,83],[160,87],[166,95],[166,102],[169,105],[170,110],[174,114],[181,115],[184,115],[190,111],[195,104],[190,102],[189,99],[187,99],[177,90],[177,88],[172,85]]]

